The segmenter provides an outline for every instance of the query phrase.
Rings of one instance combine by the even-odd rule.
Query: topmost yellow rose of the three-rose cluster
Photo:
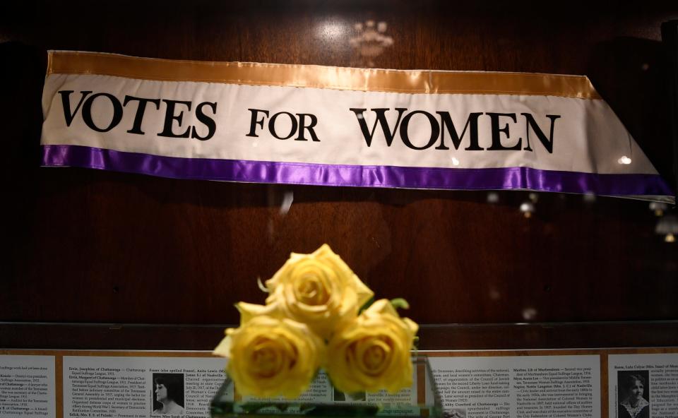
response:
[[[266,287],[266,304],[326,339],[374,294],[327,244],[311,254],[292,253]]]

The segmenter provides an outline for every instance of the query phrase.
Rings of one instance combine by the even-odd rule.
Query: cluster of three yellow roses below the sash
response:
[[[265,305],[239,302],[239,328],[228,328],[214,354],[242,395],[297,398],[319,369],[345,393],[412,386],[410,349],[417,323],[400,318],[403,299],[374,297],[324,244],[292,253],[266,280]],[[364,306],[367,308],[362,309]]]

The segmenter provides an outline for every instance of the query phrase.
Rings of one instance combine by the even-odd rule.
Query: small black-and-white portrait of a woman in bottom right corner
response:
[[[650,372],[617,372],[619,418],[650,418]]]

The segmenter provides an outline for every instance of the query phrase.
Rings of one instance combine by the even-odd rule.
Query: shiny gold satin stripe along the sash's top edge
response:
[[[179,61],[95,52],[50,51],[47,74],[63,73],[375,92],[547,95],[600,99],[586,76]]]

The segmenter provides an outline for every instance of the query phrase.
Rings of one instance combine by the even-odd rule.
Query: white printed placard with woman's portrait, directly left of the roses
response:
[[[64,416],[208,417],[224,360],[64,356]]]

